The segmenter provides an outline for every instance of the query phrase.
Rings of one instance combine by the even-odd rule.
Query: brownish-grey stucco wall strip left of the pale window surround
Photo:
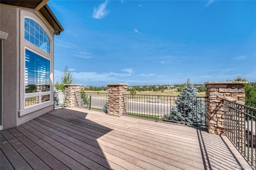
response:
[[[3,128],[16,126],[19,98],[17,9],[0,6],[0,30],[7,32],[3,40]]]

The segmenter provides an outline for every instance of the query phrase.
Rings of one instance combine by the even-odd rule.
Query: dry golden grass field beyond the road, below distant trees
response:
[[[94,92],[97,93],[97,91],[85,91],[85,92]],[[108,93],[108,91],[98,91],[99,93]],[[130,94],[130,91],[128,91],[128,94]],[[171,89],[171,90],[164,90],[164,92],[162,93],[161,91],[136,91],[136,95],[168,95],[168,96],[176,96],[180,94],[180,92],[176,92],[175,89]],[[205,92],[204,93],[199,93],[200,97],[204,97],[205,96]]]

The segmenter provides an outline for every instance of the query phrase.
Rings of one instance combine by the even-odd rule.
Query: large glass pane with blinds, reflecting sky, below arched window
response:
[[[50,91],[50,60],[26,49],[25,93],[43,91]]]

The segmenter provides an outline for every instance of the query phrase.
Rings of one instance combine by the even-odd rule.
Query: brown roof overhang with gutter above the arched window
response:
[[[39,11],[54,28],[54,34],[60,35],[60,32],[64,31],[64,28],[53,14],[50,7],[46,4],[48,1],[49,0],[0,0],[0,4]]]

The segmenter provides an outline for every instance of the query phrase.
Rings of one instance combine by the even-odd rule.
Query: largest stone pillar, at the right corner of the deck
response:
[[[210,81],[206,86],[206,126],[209,133],[223,134],[224,105],[222,99],[245,103],[246,81]]]

